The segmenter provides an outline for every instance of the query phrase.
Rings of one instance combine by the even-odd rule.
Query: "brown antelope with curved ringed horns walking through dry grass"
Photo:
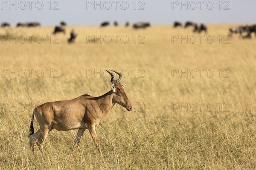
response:
[[[95,128],[116,103],[128,111],[132,110],[131,103],[124,91],[126,83],[121,85],[119,82],[122,79],[122,74],[116,71],[113,72],[118,74],[119,78],[115,80],[114,74],[108,71],[111,75],[111,91],[102,96],[93,97],[85,94],[72,100],[47,102],[36,107],[32,114],[29,129],[31,151],[34,152],[34,143],[37,141],[38,147],[43,152],[44,141],[52,129],[58,131],[79,129],[74,144],[75,150],[81,141],[84,130],[88,129],[100,156],[103,158]],[[34,133],[33,126],[34,116],[40,126],[36,133]]]

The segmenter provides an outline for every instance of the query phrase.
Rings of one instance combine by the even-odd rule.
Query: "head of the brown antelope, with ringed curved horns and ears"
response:
[[[106,70],[106,71],[111,75],[110,81],[112,82],[111,89],[113,92],[112,102],[114,104],[117,103],[117,104],[121,105],[122,107],[126,108],[127,111],[131,111],[132,110],[131,103],[130,103],[128,97],[126,96],[125,90],[124,90],[126,83],[124,85],[121,85],[121,83],[119,82],[122,79],[122,74],[111,70],[119,75],[119,78],[115,80],[114,74],[108,70]]]

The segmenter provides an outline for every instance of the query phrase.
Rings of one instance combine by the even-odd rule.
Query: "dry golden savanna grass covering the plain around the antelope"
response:
[[[76,26],[58,37],[53,27],[1,28],[0,169],[255,169],[256,37],[227,40],[230,26],[209,25],[201,43],[192,28],[172,26]],[[78,37],[68,44],[72,28]],[[6,34],[27,40],[9,43]],[[30,43],[27,35],[44,41]],[[94,43],[90,35],[105,40]],[[186,35],[188,43],[174,40]],[[35,147],[33,159],[27,135],[35,105],[105,94],[110,77],[101,71],[107,68],[126,74],[121,82],[133,111],[116,105],[96,128],[105,162],[88,131],[69,159],[77,130],[52,130],[45,154]],[[31,76],[27,69],[34,69]],[[186,70],[187,77],[179,74]]]

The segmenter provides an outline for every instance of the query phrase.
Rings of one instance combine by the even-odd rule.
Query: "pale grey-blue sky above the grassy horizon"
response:
[[[98,26],[102,21],[172,24],[256,23],[256,0],[0,0],[0,22],[38,21],[55,26]]]

